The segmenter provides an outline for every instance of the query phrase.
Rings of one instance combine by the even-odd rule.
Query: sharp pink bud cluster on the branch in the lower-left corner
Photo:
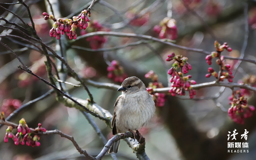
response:
[[[13,131],[13,127],[8,126],[8,128],[6,129],[6,134],[4,136],[5,143],[8,142],[8,138],[11,138],[14,141],[15,145],[18,145],[18,144],[24,145],[26,142],[27,146],[32,146],[32,147],[40,146],[40,142],[38,142],[40,137],[38,135],[34,135],[34,137],[32,138],[31,130],[30,128],[28,128],[28,125],[26,124],[25,119],[22,118],[19,121],[16,135],[14,135],[12,131]],[[46,132],[46,129],[42,128],[42,125],[39,123],[38,127],[35,128],[35,131]]]

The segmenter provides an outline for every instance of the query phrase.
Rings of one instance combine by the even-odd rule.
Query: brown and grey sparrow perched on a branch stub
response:
[[[146,125],[154,116],[156,111],[153,96],[150,95],[144,83],[138,77],[128,77],[124,79],[121,87],[117,91],[122,91],[114,103],[114,114],[111,127],[113,135],[133,132]],[[139,132],[138,132],[139,133]],[[120,140],[114,142],[108,153],[117,153]]]

